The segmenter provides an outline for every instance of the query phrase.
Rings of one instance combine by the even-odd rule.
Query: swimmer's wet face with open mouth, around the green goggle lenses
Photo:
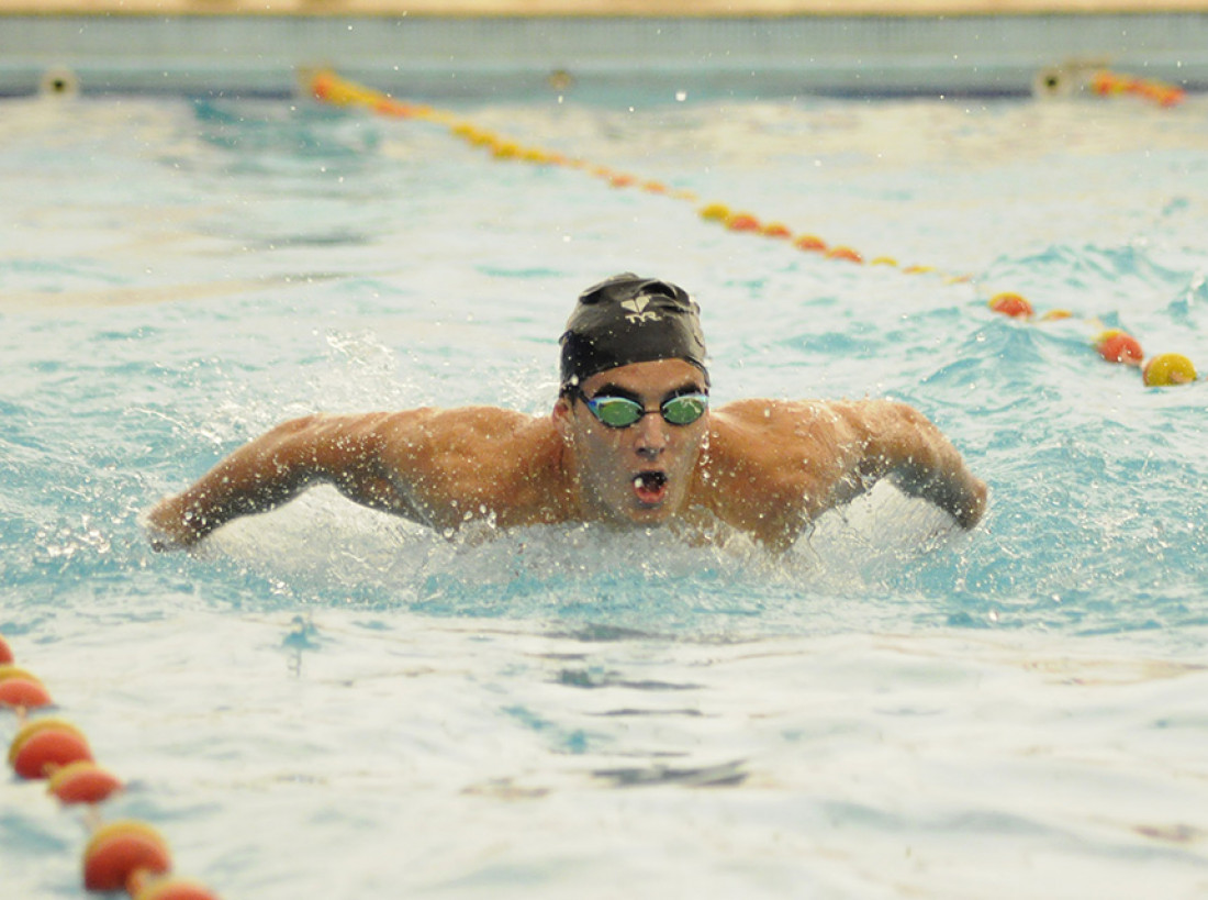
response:
[[[683,511],[707,446],[709,413],[675,425],[660,408],[668,400],[707,391],[699,368],[672,359],[599,372],[580,385],[579,395],[558,400],[554,424],[574,455],[580,500],[590,518],[656,526]],[[609,428],[583,399],[604,396],[633,400],[646,414],[628,428]]]

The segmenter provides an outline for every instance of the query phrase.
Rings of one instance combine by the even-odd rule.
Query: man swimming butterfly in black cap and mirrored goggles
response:
[[[236,449],[156,505],[156,550],[327,483],[359,504],[455,533],[594,522],[727,530],[783,551],[882,478],[972,528],[986,484],[925,417],[885,400],[709,406],[699,307],[669,281],[614,275],[580,297],[548,416],[496,407],[307,416]]]

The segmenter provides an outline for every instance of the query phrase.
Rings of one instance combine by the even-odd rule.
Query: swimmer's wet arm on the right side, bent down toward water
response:
[[[904,493],[948,512],[962,528],[981,521],[986,483],[923,413],[906,403],[870,400],[860,405],[859,418],[865,434],[861,480],[889,478]]]

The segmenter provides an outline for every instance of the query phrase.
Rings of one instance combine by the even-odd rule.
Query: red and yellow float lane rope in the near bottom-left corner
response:
[[[93,757],[88,738],[64,719],[42,715],[54,702],[41,679],[17,666],[0,634],[0,708],[16,714],[8,765],[24,780],[45,780],[64,807],[85,808],[89,838],[82,854],[83,887],[124,890],[132,900],[219,900],[205,886],[173,875],[168,842],[137,819],[105,823],[101,805],[123,789]]]

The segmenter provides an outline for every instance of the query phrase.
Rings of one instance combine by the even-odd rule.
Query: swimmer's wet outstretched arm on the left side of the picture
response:
[[[413,521],[416,504],[382,465],[385,435],[401,414],[308,416],[234,451],[187,490],[147,513],[156,550],[191,547],[231,519],[268,512],[306,488],[329,483],[356,503]]]

